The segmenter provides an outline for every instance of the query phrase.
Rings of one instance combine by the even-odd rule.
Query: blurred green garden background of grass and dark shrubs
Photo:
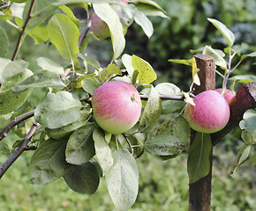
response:
[[[188,91],[192,69],[168,62],[168,59],[190,59],[191,49],[205,45],[221,49],[226,47],[225,40],[207,18],[216,18],[227,25],[235,33],[236,44],[247,43],[244,53],[256,50],[255,0],[159,0],[156,2],[167,11],[170,19],[150,18],[154,25],[154,34],[150,40],[139,25],[132,25],[125,37],[124,51],[129,55],[139,55],[149,62],[157,71],[156,83],[170,82]],[[78,10],[77,15],[83,14]],[[9,57],[11,57],[18,32],[3,21],[0,21],[0,25],[8,30],[11,40]],[[102,48],[104,51],[101,50]],[[92,39],[88,44],[87,54],[96,57],[102,64],[107,64],[112,54],[111,45],[107,41]],[[29,68],[35,70],[38,68],[35,60],[40,56],[54,59],[62,65],[68,64],[49,43],[34,46],[34,41],[27,37],[19,52],[19,58],[30,62]],[[255,75],[253,62],[255,60],[247,59],[234,74]],[[220,84],[221,78],[217,77],[217,85]],[[43,93],[34,91],[33,96],[37,97],[34,101],[40,101]],[[1,123],[3,126],[4,122]],[[12,133],[4,142],[11,147],[17,139],[19,137]],[[240,131],[237,129],[215,147],[212,187],[214,211],[256,210],[256,168],[253,163],[249,159],[238,167],[234,175],[230,175],[230,167],[242,143]],[[4,144],[0,144],[0,148],[7,150]],[[63,178],[44,186],[31,185],[28,164],[32,153],[26,152],[20,156],[0,180],[0,210],[114,210],[104,180],[101,181],[94,195],[72,192],[65,185]],[[255,154],[255,147],[252,148],[251,154],[253,153]],[[1,164],[4,164],[6,159],[7,156],[0,155]],[[132,211],[188,210],[186,152],[164,162],[159,157],[145,153],[137,161],[140,176],[139,196],[131,208]]]

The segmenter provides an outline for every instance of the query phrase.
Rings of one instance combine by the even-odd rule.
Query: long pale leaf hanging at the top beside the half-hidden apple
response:
[[[117,59],[124,51],[125,39],[123,26],[119,20],[117,12],[114,11],[107,3],[94,3],[94,11],[99,18],[106,22],[111,33],[111,40],[114,55],[112,61]]]

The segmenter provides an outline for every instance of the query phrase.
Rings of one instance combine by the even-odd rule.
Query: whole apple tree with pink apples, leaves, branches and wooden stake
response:
[[[76,7],[84,10],[86,20],[76,18]],[[232,128],[242,129],[245,145],[234,160],[234,172],[256,143],[255,76],[230,77],[255,52],[241,55],[243,46],[234,45],[234,34],[208,18],[227,47],[206,46],[190,60],[170,59],[192,67],[191,87],[182,91],[171,82],[156,84],[151,64],[124,54],[130,25],[141,26],[150,38],[154,27],[148,16],[168,18],[154,1],[17,0],[2,1],[0,9],[2,21],[19,33],[10,49],[7,30],[0,27],[0,142],[11,152],[0,178],[24,151],[34,150],[29,165],[33,184],[63,177],[73,191],[93,194],[104,178],[117,210],[128,210],[139,192],[139,156],[150,153],[168,160],[189,148],[190,208],[210,210],[210,188],[205,187],[211,184],[215,144]],[[29,62],[17,59],[26,36],[34,40],[33,47],[56,47],[63,62],[38,55],[38,69],[30,70]],[[111,43],[107,65],[90,56],[91,41]],[[235,56],[239,62],[233,66]],[[215,90],[215,73],[222,77],[220,93],[210,91]],[[228,103],[224,96],[234,92],[237,81],[245,85]],[[38,89],[45,91],[40,100]],[[162,121],[162,114],[169,119]],[[10,131],[20,137],[11,149],[4,144]]]

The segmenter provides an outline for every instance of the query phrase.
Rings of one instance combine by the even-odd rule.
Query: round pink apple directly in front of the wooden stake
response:
[[[193,101],[195,106],[187,104],[184,108],[184,117],[192,129],[212,134],[230,120],[230,106],[217,91],[203,91]]]

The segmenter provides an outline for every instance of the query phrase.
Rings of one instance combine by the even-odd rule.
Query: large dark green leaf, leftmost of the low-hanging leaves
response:
[[[69,166],[64,159],[65,144],[49,138],[35,150],[30,162],[33,184],[49,183],[64,175]]]

